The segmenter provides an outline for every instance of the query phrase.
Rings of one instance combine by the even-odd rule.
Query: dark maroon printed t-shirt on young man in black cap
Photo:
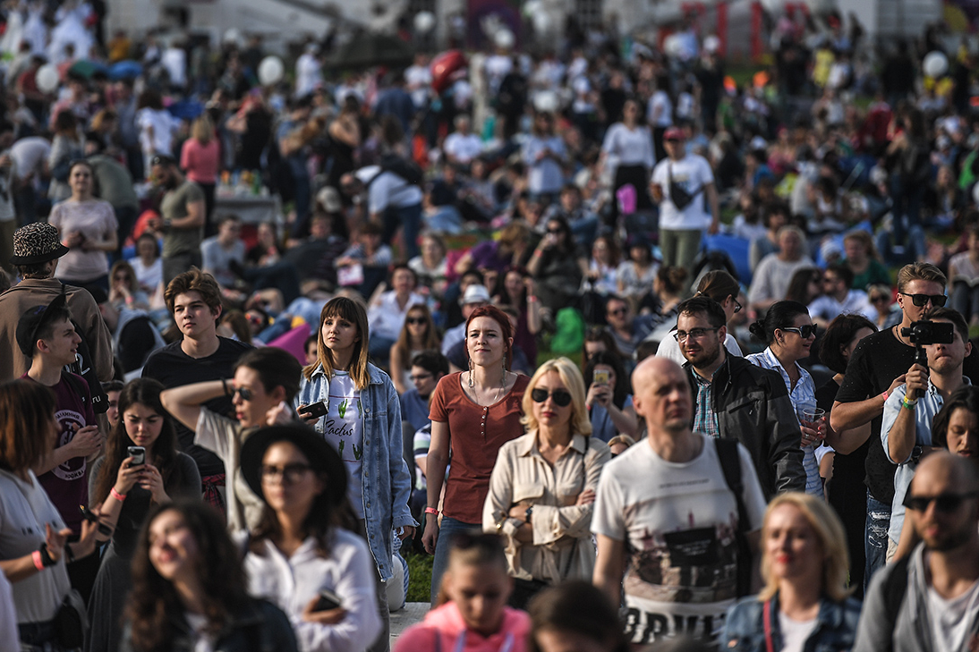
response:
[[[60,448],[70,442],[74,434],[89,425],[98,425],[95,420],[95,410],[88,396],[88,385],[81,376],[71,374],[76,381],[74,386],[83,389],[85,396],[78,396],[65,374],[62,380],[51,390],[56,396],[55,418],[58,420],[58,442],[55,448]],[[26,374],[22,378],[29,378]],[[88,506],[88,462],[84,457],[72,457],[60,466],[56,466],[37,478],[37,482],[47,492],[51,502],[65,520],[65,524],[74,534],[81,532],[81,514],[78,505]]]

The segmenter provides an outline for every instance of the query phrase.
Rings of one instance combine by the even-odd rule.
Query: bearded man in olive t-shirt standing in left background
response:
[[[163,230],[163,286],[191,267],[202,267],[204,241],[204,190],[186,178],[176,161],[158,154],[151,160],[152,175],[166,191],[160,203],[160,217],[150,226]]]

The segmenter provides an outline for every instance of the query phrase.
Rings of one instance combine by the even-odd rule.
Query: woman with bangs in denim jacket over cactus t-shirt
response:
[[[363,305],[337,297],[323,306],[315,364],[303,369],[295,405],[340,452],[350,474],[348,497],[377,565],[378,610],[384,624],[370,648],[390,649],[391,619],[384,582],[394,577],[392,535],[414,535],[408,509],[411,480],[401,453],[401,404],[388,374],[367,361]]]

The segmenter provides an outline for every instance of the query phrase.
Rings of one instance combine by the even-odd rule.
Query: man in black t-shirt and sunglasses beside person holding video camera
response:
[[[867,336],[854,350],[830,412],[830,426],[836,432],[871,422],[864,480],[867,487],[864,587],[873,572],[884,565],[887,554],[897,467],[887,458],[880,442],[880,425],[884,401],[904,384],[905,373],[914,363],[914,347],[901,331],[921,319],[932,306],[945,305],[945,285],[945,274],[933,264],[915,262],[901,268],[898,272],[898,304],[904,313],[903,319],[893,328]],[[963,373],[970,379],[979,380],[979,358],[975,350],[965,359]]]

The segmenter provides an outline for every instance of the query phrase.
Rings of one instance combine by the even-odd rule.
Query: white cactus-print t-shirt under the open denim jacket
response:
[[[360,413],[360,391],[346,371],[333,370],[323,437],[340,453],[347,467],[347,496],[358,519],[364,518],[361,467],[363,466],[364,429]]]

